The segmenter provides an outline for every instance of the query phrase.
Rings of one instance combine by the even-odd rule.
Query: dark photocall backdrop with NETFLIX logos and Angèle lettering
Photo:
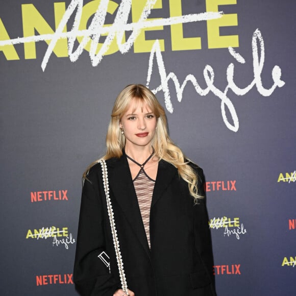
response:
[[[82,172],[131,83],[204,169],[218,295],[295,293],[294,0],[0,4],[1,295],[77,295]]]

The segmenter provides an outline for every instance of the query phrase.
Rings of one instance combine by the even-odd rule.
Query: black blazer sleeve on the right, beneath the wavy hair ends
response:
[[[196,250],[199,252],[201,256],[202,263],[207,270],[208,277],[211,279],[212,282],[212,293],[216,295],[215,292],[215,279],[213,275],[213,250],[212,250],[212,240],[211,240],[211,233],[209,228],[209,216],[206,207],[206,194],[204,190],[205,185],[205,177],[203,169],[198,167],[198,188],[199,193],[204,196],[203,199],[199,200],[199,203],[194,206],[195,215],[195,247]]]

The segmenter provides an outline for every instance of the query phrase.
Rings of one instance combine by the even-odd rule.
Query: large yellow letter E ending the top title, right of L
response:
[[[218,12],[219,5],[236,4],[236,0],[206,0],[207,12]],[[220,36],[220,27],[237,26],[237,14],[224,14],[221,18],[207,20],[208,47],[238,47],[238,35]]]

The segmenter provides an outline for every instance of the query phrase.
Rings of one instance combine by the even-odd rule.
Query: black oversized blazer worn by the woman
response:
[[[203,170],[198,173],[203,194]],[[107,160],[110,198],[129,289],[135,296],[214,295],[204,201],[194,205],[176,167],[161,160],[150,212],[151,250],[126,155]],[[97,256],[105,251],[111,272]],[[100,164],[82,190],[73,278],[81,295],[112,296],[120,287]]]

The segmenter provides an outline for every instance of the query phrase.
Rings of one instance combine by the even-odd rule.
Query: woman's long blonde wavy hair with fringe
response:
[[[168,136],[167,120],[163,107],[158,102],[154,93],[141,84],[128,85],[117,96],[112,109],[111,120],[106,136],[107,151],[101,159],[107,160],[110,158],[120,158],[122,156],[126,138],[121,134],[119,123],[131,102],[135,102],[135,100],[149,107],[150,111],[157,117],[157,129],[151,142],[154,155],[157,156],[159,160],[163,159],[178,169],[179,175],[188,183],[189,192],[197,203],[198,199],[203,198],[198,190],[198,176],[196,176],[195,171],[188,164],[181,149],[176,146]],[[87,179],[89,169],[101,159],[89,165],[83,174],[84,179]]]

